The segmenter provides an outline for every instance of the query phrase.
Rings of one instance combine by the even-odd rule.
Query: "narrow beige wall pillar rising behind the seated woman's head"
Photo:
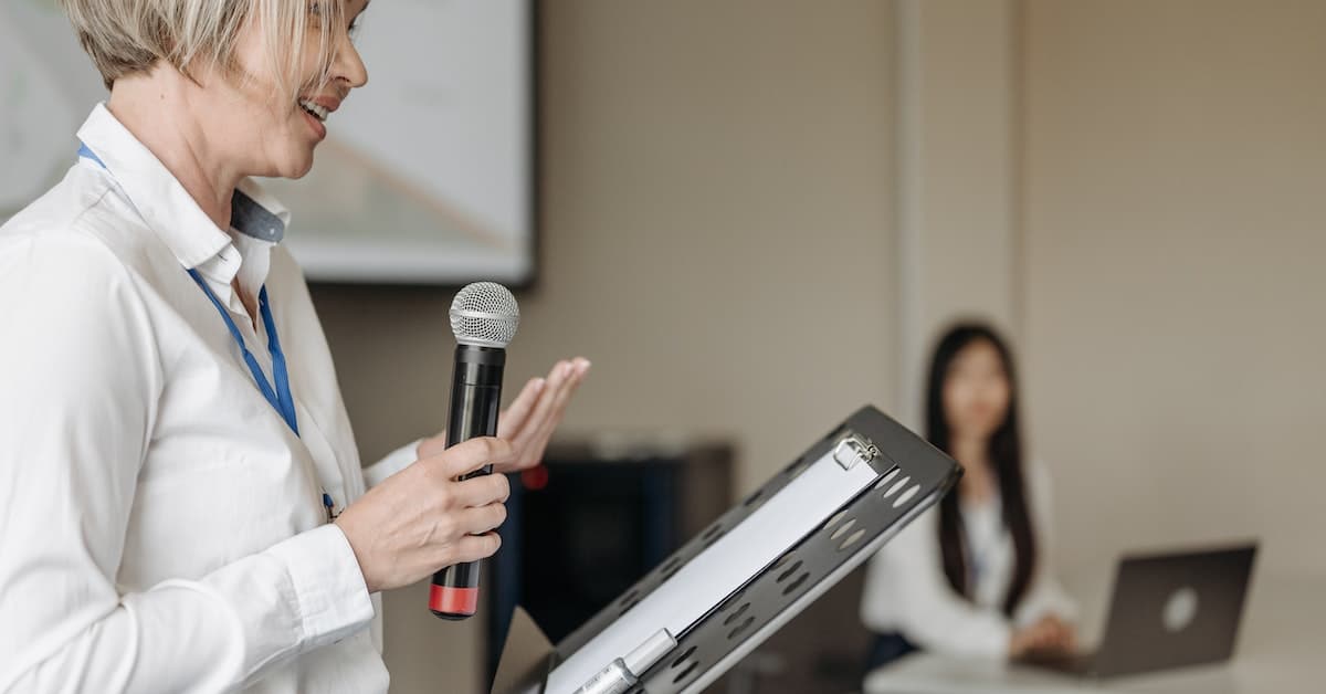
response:
[[[899,387],[922,423],[935,334],[981,317],[1016,334],[1017,0],[898,0],[894,107]]]

